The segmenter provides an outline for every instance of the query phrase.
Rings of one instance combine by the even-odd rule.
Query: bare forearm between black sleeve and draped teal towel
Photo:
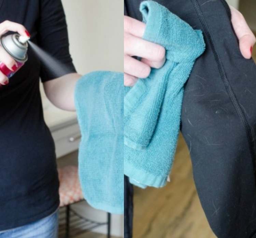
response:
[[[58,108],[75,111],[74,90],[75,84],[82,75],[70,73],[54,80],[43,83],[47,98]]]

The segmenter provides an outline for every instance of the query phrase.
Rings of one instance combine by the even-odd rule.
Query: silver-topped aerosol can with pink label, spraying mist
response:
[[[1,46],[14,58],[17,65],[12,71],[4,63],[0,62],[0,70],[6,77],[12,77],[27,61],[28,40],[29,37],[21,36],[17,33],[1,37]]]

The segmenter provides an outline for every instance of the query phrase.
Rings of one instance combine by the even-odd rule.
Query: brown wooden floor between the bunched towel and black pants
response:
[[[134,187],[133,238],[216,238],[196,192],[189,152],[180,135],[165,187]]]

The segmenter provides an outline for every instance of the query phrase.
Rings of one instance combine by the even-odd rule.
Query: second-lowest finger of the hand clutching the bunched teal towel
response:
[[[150,74],[150,66],[140,62],[131,56],[124,56],[124,72],[137,78],[147,78]]]

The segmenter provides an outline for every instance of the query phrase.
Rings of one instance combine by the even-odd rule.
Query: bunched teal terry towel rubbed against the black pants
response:
[[[124,90],[124,173],[141,188],[166,184],[180,129],[184,83],[205,49],[201,30],[155,1],[140,4],[143,39],[166,49],[166,62]]]

